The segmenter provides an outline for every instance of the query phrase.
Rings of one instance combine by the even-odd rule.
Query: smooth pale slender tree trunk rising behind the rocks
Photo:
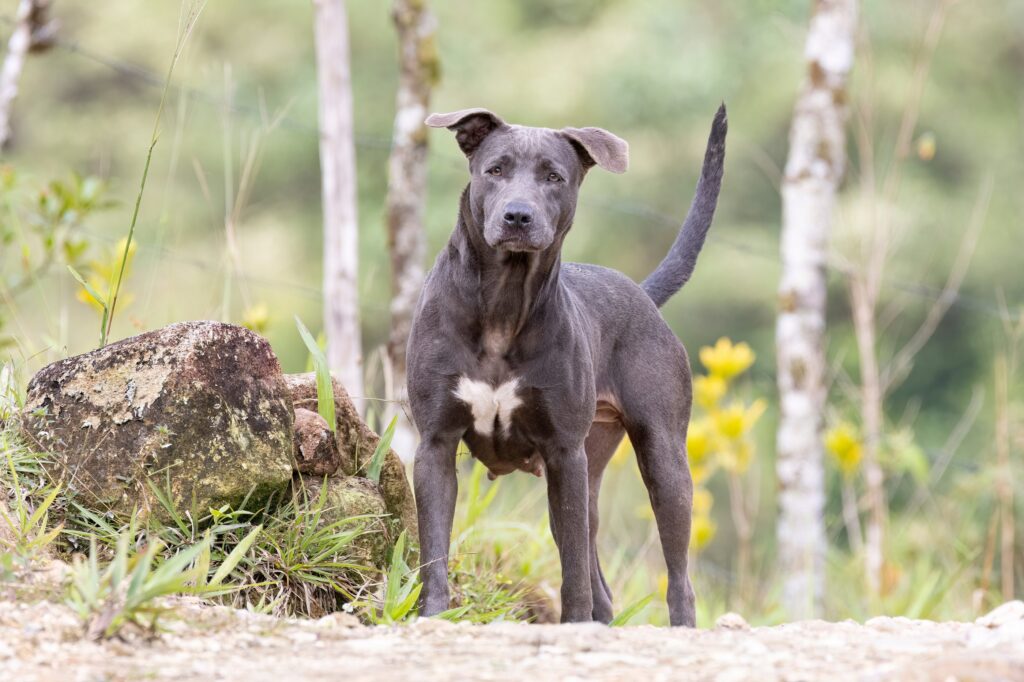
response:
[[[355,146],[345,1],[313,0],[313,20],[319,87],[327,358],[345,390],[361,396]],[[361,412],[361,397],[352,400]]]

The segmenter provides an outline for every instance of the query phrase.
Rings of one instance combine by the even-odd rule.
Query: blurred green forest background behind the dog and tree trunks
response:
[[[0,7],[4,36],[16,4]],[[595,170],[588,177],[566,260],[607,265],[636,280],[650,272],[689,205],[712,116],[720,101],[728,104],[726,179],[715,225],[692,282],[664,309],[695,373],[714,374],[698,361],[699,349],[720,337],[748,344],[756,356],[728,384],[729,395],[742,400],[749,466],[716,467],[722,473],[709,472],[708,497],[699,501],[706,513],[694,540],[694,577],[702,624],[729,609],[754,622],[784,617],[774,569],[779,185],[804,78],[810,4],[432,3],[441,68],[433,111],[485,106],[510,122],[599,126],[630,142],[627,174]],[[1011,331],[1024,300],[1024,2],[948,4],[925,75],[922,53],[939,2],[872,0],[861,7],[849,94],[850,165],[828,259],[830,617],[881,611],[969,617],[1013,597],[1005,594],[1008,565],[1017,585],[1024,581],[1024,542],[1008,547],[996,540],[996,528],[1020,507],[1013,500],[1024,497],[1019,468],[1011,477],[1011,468],[996,464],[997,434],[1014,457],[1024,449],[1020,339]],[[180,10],[172,0],[57,0],[57,43],[26,61],[13,137],[0,159],[0,233],[10,233],[0,244],[0,352],[23,383],[39,367],[96,345],[96,310],[83,303],[87,297],[78,296],[62,263],[71,259],[89,275],[110,278],[120,259],[117,245],[129,223]],[[397,46],[389,3],[351,0],[348,12],[365,395],[373,398],[382,396],[382,383],[372,356],[389,330],[384,206]],[[286,371],[306,367],[294,317],[315,331],[323,307],[312,26],[309,3],[205,7],[172,79],[113,339],[180,319],[217,318],[257,328]],[[919,84],[911,153],[888,207],[898,238],[881,291],[881,355],[906,343],[943,298],[972,215],[982,223],[958,295],[946,297],[948,312],[885,401],[891,512],[883,584],[869,594],[851,519],[844,519],[844,500],[850,502],[844,496],[858,507],[863,489],[849,280],[867,229],[865,206],[877,201],[861,180],[892,163],[901,117]],[[429,260],[447,239],[466,181],[452,135],[432,132]],[[988,202],[979,199],[986,186]],[[47,220],[74,238],[52,267],[19,284],[43,247],[18,226]],[[999,377],[1009,378],[1005,390]],[[368,404],[379,419],[376,403]],[[997,496],[1000,482],[1011,481]],[[464,515],[471,502],[460,506],[458,560],[542,590],[557,586],[543,482],[512,477],[494,484],[506,489],[485,509],[472,507],[478,516]],[[1005,508],[999,515],[1008,496],[1010,519]],[[612,465],[602,504],[600,546],[621,608],[664,590],[660,549],[630,458]],[[474,523],[486,531],[473,532]],[[740,546],[746,556],[737,558]],[[1009,564],[999,559],[1007,551]],[[655,598],[639,620],[666,619]]]

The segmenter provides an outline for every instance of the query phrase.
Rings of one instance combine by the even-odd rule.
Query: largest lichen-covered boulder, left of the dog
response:
[[[29,384],[23,430],[90,507],[164,516],[259,503],[292,477],[293,412],[278,358],[253,332],[171,325],[49,365]]]

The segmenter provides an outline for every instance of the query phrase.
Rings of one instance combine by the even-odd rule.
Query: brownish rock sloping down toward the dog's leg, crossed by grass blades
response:
[[[316,410],[315,374],[311,372],[286,374],[285,381],[296,409]],[[341,454],[341,470],[350,476],[364,472],[374,451],[377,450],[380,436],[362,422],[355,406],[348,397],[348,392],[337,379],[334,380],[334,410],[337,424],[335,437]],[[409,486],[409,479],[406,477],[406,467],[394,451],[388,451],[384,459],[380,488],[388,512],[401,519],[402,526],[409,531],[411,540],[418,538],[416,502]]]

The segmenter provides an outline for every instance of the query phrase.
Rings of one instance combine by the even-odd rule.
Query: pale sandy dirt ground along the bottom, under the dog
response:
[[[154,639],[92,643],[63,605],[0,601],[0,680],[1024,680],[1024,603],[977,623],[880,617],[712,630],[600,625],[365,627],[194,600]]]

